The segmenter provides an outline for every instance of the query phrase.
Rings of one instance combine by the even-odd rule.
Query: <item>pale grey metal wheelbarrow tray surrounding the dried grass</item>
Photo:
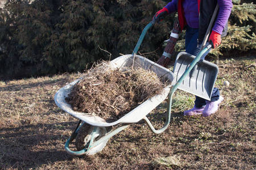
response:
[[[74,82],[68,84],[67,86],[61,88],[57,91],[55,95],[55,103],[63,111],[71,114],[72,116],[79,118],[80,120],[86,122],[92,126],[113,126],[117,124],[131,124],[142,120],[144,116],[150,113],[155,107],[157,107],[163,100],[166,99],[172,80],[174,80],[174,73],[170,70],[150,61],[147,58],[138,55],[125,55],[110,61],[110,66],[113,68],[121,69],[122,67],[142,67],[145,70],[151,70],[158,75],[162,82],[168,82],[170,85],[163,89],[162,94],[151,97],[150,99],[144,101],[142,104],[138,105],[137,108],[133,109],[125,116],[119,118],[119,120],[114,122],[106,122],[103,118],[98,117],[97,115],[92,115],[88,113],[75,112],[72,110],[71,105],[65,101],[65,98],[70,94],[73,86],[79,82],[80,79],[75,80]]]

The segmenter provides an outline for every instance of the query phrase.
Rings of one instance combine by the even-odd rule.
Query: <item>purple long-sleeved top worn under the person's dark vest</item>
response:
[[[210,3],[217,1],[219,5],[219,12],[217,15],[216,22],[213,25],[212,30],[222,34],[222,31],[228,22],[228,18],[232,9],[232,1],[231,0],[183,0],[182,7],[184,10],[184,18],[185,23],[189,25],[189,27],[192,28],[200,28],[203,24],[207,24],[207,22],[200,22],[202,23],[199,25],[199,6],[200,6],[200,16],[203,16],[202,13],[207,13],[208,10],[205,10],[205,8],[215,8],[215,6],[210,5]],[[203,7],[202,7],[203,3]],[[172,2],[169,2],[165,6],[168,10],[168,14],[171,14],[172,12],[178,11],[178,0],[173,0]],[[180,12],[180,14],[183,14],[183,11]],[[179,11],[178,11],[179,14]],[[207,25],[208,27],[208,25]]]

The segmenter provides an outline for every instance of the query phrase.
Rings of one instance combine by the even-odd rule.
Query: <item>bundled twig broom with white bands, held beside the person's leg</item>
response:
[[[180,33],[180,25],[179,25],[179,22],[175,21],[174,29],[172,29],[170,39],[167,42],[166,48],[164,48],[163,55],[158,59],[156,63],[167,68],[172,52],[174,52],[174,46],[176,44],[177,39],[179,38],[179,33]]]

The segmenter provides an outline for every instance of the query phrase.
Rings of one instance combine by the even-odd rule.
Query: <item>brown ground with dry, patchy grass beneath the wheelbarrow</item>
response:
[[[163,133],[154,134],[139,121],[89,156],[65,151],[78,120],[54,102],[56,91],[79,74],[2,81],[0,168],[255,169],[255,63],[255,57],[220,60],[216,87],[224,101],[212,116],[183,116],[194,96],[177,91],[171,123]],[[225,80],[230,86],[223,85]],[[163,126],[165,113],[163,103],[148,114],[156,128]]]

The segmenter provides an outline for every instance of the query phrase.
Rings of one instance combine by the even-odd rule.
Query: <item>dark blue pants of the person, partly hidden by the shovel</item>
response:
[[[203,43],[202,41],[197,42],[198,35],[199,35],[198,28],[191,28],[187,25],[186,36],[185,36],[185,48],[186,48],[186,52],[189,54],[192,54],[193,56],[196,56],[199,53],[201,45]],[[209,43],[207,42],[206,45],[208,44]],[[206,52],[201,57],[201,59],[204,59],[209,52],[210,50],[208,50],[208,52]],[[212,91],[212,96],[210,97],[210,101],[217,101],[219,98],[220,98],[220,91],[218,90],[218,88],[214,87]],[[201,108],[204,105],[206,105],[205,99],[196,96],[195,107]]]

